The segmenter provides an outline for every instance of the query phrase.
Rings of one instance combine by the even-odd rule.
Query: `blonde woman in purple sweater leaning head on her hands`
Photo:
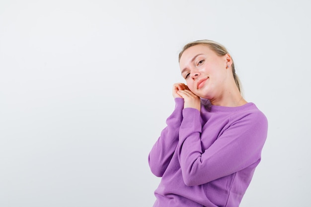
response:
[[[210,40],[179,53],[187,85],[149,155],[162,177],[154,207],[238,207],[261,159],[267,119],[241,96],[233,59]]]

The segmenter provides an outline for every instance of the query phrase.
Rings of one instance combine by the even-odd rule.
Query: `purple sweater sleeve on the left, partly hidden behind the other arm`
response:
[[[149,166],[157,177],[162,177],[176,150],[183,106],[183,99],[175,98],[175,109],[166,119],[167,126],[161,131],[160,137],[149,153]]]

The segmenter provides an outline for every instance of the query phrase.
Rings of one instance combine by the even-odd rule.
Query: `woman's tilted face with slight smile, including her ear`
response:
[[[228,77],[229,54],[217,55],[207,45],[195,45],[183,52],[179,66],[188,88],[197,96],[215,99],[225,90]]]

